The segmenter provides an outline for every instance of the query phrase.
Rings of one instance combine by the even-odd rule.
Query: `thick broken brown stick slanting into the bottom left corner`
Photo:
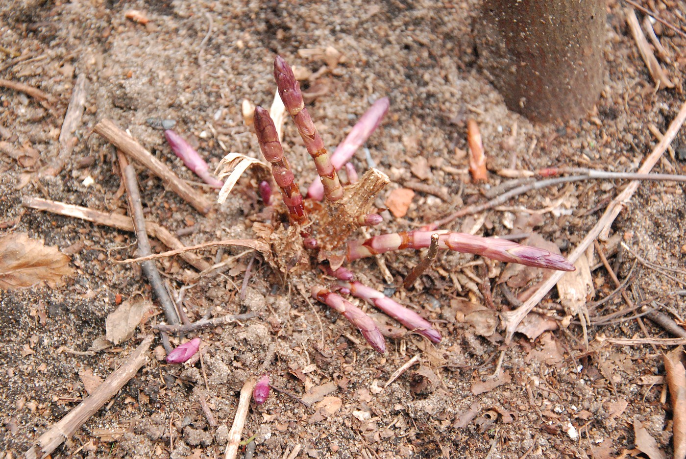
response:
[[[147,350],[152,343],[152,335],[148,335],[139,344],[134,353],[122,366],[111,373],[102,384],[97,386],[79,405],[64,416],[58,423],[50,427],[45,434],[38,437],[36,443],[25,452],[26,459],[45,458],[71,436],[88,419],[99,410],[110,398],[138,373],[141,366],[147,362]]]

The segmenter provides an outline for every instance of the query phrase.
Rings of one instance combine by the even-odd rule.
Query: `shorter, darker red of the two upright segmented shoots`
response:
[[[293,171],[288,161],[283,157],[283,147],[279,142],[279,134],[276,132],[274,121],[267,110],[257,106],[254,123],[259,148],[265,159],[272,163],[272,175],[276,185],[281,188],[281,196],[288,208],[288,215],[294,222],[303,222],[307,217],[305,207],[303,207],[303,195],[300,194],[298,185],[294,183]]]

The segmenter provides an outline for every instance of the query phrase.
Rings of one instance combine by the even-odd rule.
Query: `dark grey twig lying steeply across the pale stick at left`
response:
[[[128,196],[131,219],[133,220],[134,228],[136,228],[138,250],[142,255],[150,255],[152,253],[152,248],[150,248],[150,241],[147,239],[147,233],[145,233],[145,219],[143,218],[141,193],[138,189],[136,169],[134,169],[133,165],[129,164],[123,168],[123,178],[124,185],[126,186],[126,194]],[[145,272],[147,280],[150,282],[150,287],[154,290],[162,305],[162,309],[165,311],[167,322],[173,325],[178,324],[178,315],[176,314],[174,302],[169,298],[169,293],[162,283],[162,278],[154,261],[143,261],[141,267],[143,268],[143,272]]]

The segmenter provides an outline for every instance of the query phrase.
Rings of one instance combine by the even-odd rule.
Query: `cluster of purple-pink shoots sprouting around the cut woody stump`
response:
[[[305,143],[307,152],[309,152],[316,165],[319,180],[316,180],[309,187],[307,194],[309,198],[314,200],[321,200],[323,197],[326,202],[323,207],[314,207],[314,209],[329,209],[330,213],[343,215],[336,210],[338,209],[337,206],[340,206],[340,202],[343,202],[342,198],[346,196],[346,191],[340,183],[337,171],[342,167],[346,167],[348,178],[352,177],[355,180],[357,172],[349,161],[355,151],[364,144],[370,134],[379,126],[381,119],[383,119],[388,110],[388,98],[384,97],[377,100],[359,120],[346,139],[338,146],[334,154],[329,155],[327,149],[324,148],[324,143],[314,126],[314,122],[307,112],[307,108],[305,108],[303,95],[300,93],[300,85],[296,81],[292,69],[280,56],[277,56],[276,60],[274,60],[274,79],[276,80],[279,95],[285,109],[291,116],[300,137],[303,139],[303,143]],[[292,224],[299,224],[300,228],[316,225],[318,218],[316,215],[307,215],[307,207],[304,204],[303,196],[295,182],[292,169],[284,156],[279,135],[268,111],[258,106],[255,108],[253,119],[261,152],[266,160],[272,164],[274,182],[281,190],[281,196],[288,210],[290,221]],[[477,142],[479,136],[475,126],[471,126],[471,131],[471,143],[474,143],[474,145],[470,146],[473,150],[478,150],[480,142]],[[476,161],[477,164],[471,165],[473,169],[484,169],[482,158],[483,155],[481,155],[479,161]],[[260,183],[259,193],[265,204],[272,202],[272,191],[268,183]],[[355,220],[353,223],[357,226],[375,226],[380,224],[383,219],[381,215],[370,213],[355,217]],[[347,224],[348,222],[340,223]],[[337,222],[334,224],[337,224]],[[327,228],[319,229],[320,233],[327,232]],[[423,228],[417,231],[378,235],[366,240],[347,242],[343,250],[344,261],[371,257],[389,250],[418,250],[427,248],[431,246],[431,241],[433,240],[434,251],[448,249],[482,255],[508,263],[520,263],[527,266],[563,271],[574,270],[573,265],[564,257],[541,248],[522,246],[505,239],[485,238],[464,233],[451,233],[449,231],[426,230],[427,228]],[[317,240],[312,236],[312,234],[316,235],[317,233],[317,231],[311,233],[301,231],[305,248],[316,250],[319,247]],[[343,246],[345,243],[346,241],[344,240],[336,242],[340,246]],[[319,260],[326,259],[326,257],[321,256],[322,252],[319,255]],[[331,269],[326,263],[322,264],[322,268],[329,276],[337,279],[338,284],[333,285],[331,288],[324,285],[315,285],[311,288],[311,296],[335,309],[351,324],[355,325],[372,348],[381,353],[386,350],[386,342],[381,331],[379,331],[379,327],[362,309],[346,300],[342,295],[351,295],[366,301],[400,322],[410,331],[427,338],[431,342],[440,342],[440,333],[434,329],[431,322],[412,311],[412,309],[392,300],[392,298],[388,298],[381,292],[356,281],[353,271],[344,267],[339,268],[338,266],[335,266],[337,269]],[[266,378],[264,387],[268,388],[268,377]],[[255,392],[255,400],[258,403],[259,399],[262,399],[262,396]]]

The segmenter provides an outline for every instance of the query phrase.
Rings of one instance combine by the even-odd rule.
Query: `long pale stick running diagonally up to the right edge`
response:
[[[639,173],[647,174],[650,172],[650,169],[652,169],[655,163],[659,161],[665,150],[667,150],[667,146],[670,145],[674,137],[676,137],[677,132],[685,120],[686,103],[681,106],[679,113],[670,124],[667,132],[665,132],[665,137],[655,146],[652,153],[650,153],[648,158],[646,158],[646,161],[643,162],[643,165],[639,169]],[[595,241],[596,237],[600,236],[601,239],[608,239],[608,233],[613,222],[615,221],[615,218],[619,212],[626,207],[626,204],[631,199],[638,186],[638,181],[632,181],[626,186],[626,188],[624,188],[622,193],[619,193],[619,195],[612,200],[605,210],[605,213],[602,215],[602,217],[600,217],[600,220],[598,220],[598,223],[593,226],[591,231],[589,231],[589,233],[586,235],[586,237],[584,237],[582,242],[574,249],[574,251],[568,255],[567,259],[569,259],[569,261],[572,263],[575,262],[580,255],[584,253],[591,244],[593,244],[593,241]],[[563,275],[564,273],[560,271],[553,272],[547,281],[545,281],[538,289],[536,289],[536,292],[534,292],[532,296],[530,296],[530,298],[520,307],[514,311],[506,311],[501,313],[503,326],[506,331],[506,342],[509,343],[512,340],[512,336],[514,336],[514,332],[517,330],[519,323],[527,314],[529,314],[529,311],[536,307],[539,301],[543,299],[543,296],[545,296],[545,294],[547,294],[547,292],[549,292],[549,290],[556,285]]]

